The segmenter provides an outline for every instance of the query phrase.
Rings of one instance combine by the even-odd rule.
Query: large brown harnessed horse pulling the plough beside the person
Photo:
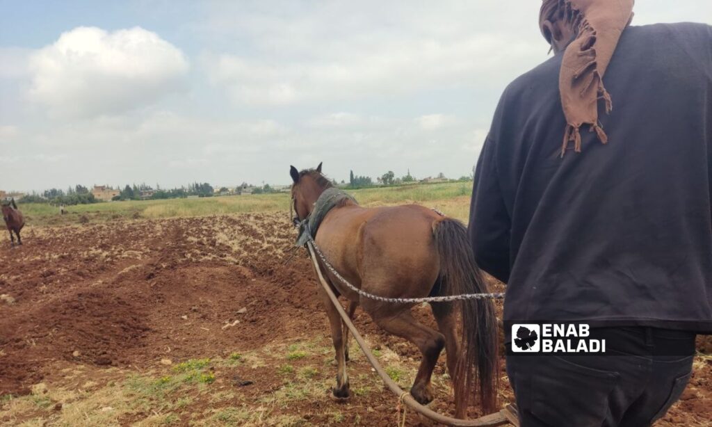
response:
[[[291,167],[293,209],[307,218],[320,194],[332,184],[316,169]],[[340,275],[357,288],[382,297],[427,297],[488,292],[459,221],[418,205],[363,208],[346,200],[331,209],[318,228],[315,242]],[[321,263],[320,263],[321,264]],[[409,340],[422,353],[410,393],[421,404],[433,399],[431,374],[443,347],[453,380],[456,416],[464,418],[475,386],[487,412],[496,406],[498,384],[497,322],[491,300],[433,302],[439,332],[422,325],[413,304],[379,302],[353,292],[322,267],[332,290],[349,301],[353,315],[361,305],[387,332]],[[347,328],[325,290],[318,287],[336,350],[333,394],[350,396],[346,371]],[[458,325],[461,319],[461,326]]]

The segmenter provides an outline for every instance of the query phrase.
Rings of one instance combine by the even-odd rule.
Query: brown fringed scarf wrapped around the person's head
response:
[[[623,30],[633,18],[635,0],[543,0],[539,26],[547,41],[544,21],[566,20],[577,30],[577,36],[564,52],[559,73],[561,105],[566,117],[566,130],[561,155],[569,142],[581,152],[582,125],[590,125],[602,143],[608,142],[598,121],[598,100],[612,110],[611,96],[603,86],[603,75],[611,62]]]

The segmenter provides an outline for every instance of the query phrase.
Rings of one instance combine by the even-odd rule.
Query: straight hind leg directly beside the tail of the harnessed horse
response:
[[[460,339],[457,334],[457,319],[454,302],[433,302],[431,303],[433,315],[438,322],[438,329],[445,336],[445,352],[447,355],[447,371],[451,381],[457,378],[457,364],[460,359]],[[468,396],[463,394],[459,387],[453,386],[455,391],[455,417],[464,418],[467,411]]]

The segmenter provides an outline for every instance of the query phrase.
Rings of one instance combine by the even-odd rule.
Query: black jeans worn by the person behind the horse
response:
[[[695,334],[596,330],[605,354],[508,355],[521,427],[650,426],[689,382]]]

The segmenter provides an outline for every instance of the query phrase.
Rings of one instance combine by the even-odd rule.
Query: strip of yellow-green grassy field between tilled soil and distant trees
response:
[[[418,203],[439,209],[445,214],[466,221],[471,191],[471,182],[450,182],[357,189],[349,192],[363,206]],[[68,206],[69,214],[65,216],[60,216],[58,208],[48,204],[19,204],[19,208],[23,211],[28,226],[55,226],[66,223],[108,221],[117,218],[176,218],[253,212],[286,212],[289,210],[289,203],[289,195],[280,193],[201,199],[112,201]]]

